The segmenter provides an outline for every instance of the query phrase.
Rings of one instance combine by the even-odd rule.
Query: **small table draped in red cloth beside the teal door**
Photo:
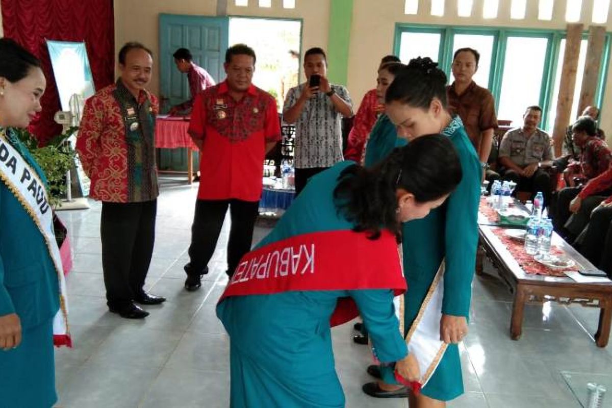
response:
[[[177,149],[187,147],[187,182],[193,183],[192,150],[198,150],[191,136],[187,133],[189,117],[158,116],[155,121],[155,147],[160,149]],[[160,170],[162,174],[185,174],[184,171]]]

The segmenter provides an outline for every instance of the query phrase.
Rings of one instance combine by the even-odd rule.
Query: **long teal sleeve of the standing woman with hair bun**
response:
[[[482,169],[466,137],[459,138],[457,152],[463,178],[446,204],[446,270],[442,313],[468,317],[472,297],[472,278],[478,245],[478,206]]]

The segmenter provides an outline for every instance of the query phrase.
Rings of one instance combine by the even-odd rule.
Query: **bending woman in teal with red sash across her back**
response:
[[[371,169],[343,161],[312,177],[274,230],[243,258],[218,303],[217,316],[230,335],[231,407],[345,406],[330,326],[357,316],[354,308],[337,319],[351,304],[368,326],[378,359],[417,379],[392,303],[393,284],[405,285],[396,238],[400,222],[425,217],[460,179],[452,143],[439,135],[397,149]],[[329,237],[341,238],[315,251]],[[294,248],[289,266],[278,261],[288,248]],[[301,266],[302,248],[312,256],[312,270]],[[324,253],[330,256],[321,258]],[[383,261],[381,253],[387,254]],[[315,284],[310,280],[316,276],[321,280]]]

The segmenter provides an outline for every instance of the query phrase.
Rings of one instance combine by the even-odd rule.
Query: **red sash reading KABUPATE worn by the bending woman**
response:
[[[301,234],[269,243],[242,257],[219,299],[289,291],[392,289],[406,291],[395,236],[383,231],[371,240],[363,232]],[[332,326],[353,320],[359,311],[351,298],[338,300]]]

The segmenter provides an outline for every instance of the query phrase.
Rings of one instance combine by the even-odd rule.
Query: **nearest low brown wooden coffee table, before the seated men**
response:
[[[525,303],[555,301],[564,305],[578,303],[582,306],[600,308],[599,326],[594,338],[598,347],[605,347],[610,338],[612,322],[612,283],[586,284],[577,283],[567,276],[554,277],[528,274],[524,272],[510,254],[510,251],[494,234],[493,228],[493,226],[479,223],[480,248],[476,261],[476,274],[482,275],[482,260],[486,254],[498,269],[499,276],[514,294],[510,321],[512,339],[520,339],[523,332]],[[564,250],[577,263],[577,269],[595,269],[591,262],[572,248],[569,243],[562,240],[555,232],[553,232],[552,243]]]

